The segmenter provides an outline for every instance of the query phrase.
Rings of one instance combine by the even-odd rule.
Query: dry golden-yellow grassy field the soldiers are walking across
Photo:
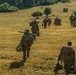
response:
[[[76,10],[75,5],[76,1],[73,1],[0,13],[0,75],[53,75],[61,47],[72,41],[73,48],[76,49],[76,28],[71,27],[69,22],[71,13]],[[39,19],[40,36],[31,47],[30,57],[23,63],[22,52],[16,52],[23,35],[18,31],[30,30],[29,22],[33,19],[31,13],[36,10],[43,12],[45,7],[52,8],[52,14],[49,15],[52,25],[44,29],[42,20],[45,15]],[[67,7],[69,12],[63,13],[64,7]],[[57,16],[62,19],[61,26],[53,24]]]

